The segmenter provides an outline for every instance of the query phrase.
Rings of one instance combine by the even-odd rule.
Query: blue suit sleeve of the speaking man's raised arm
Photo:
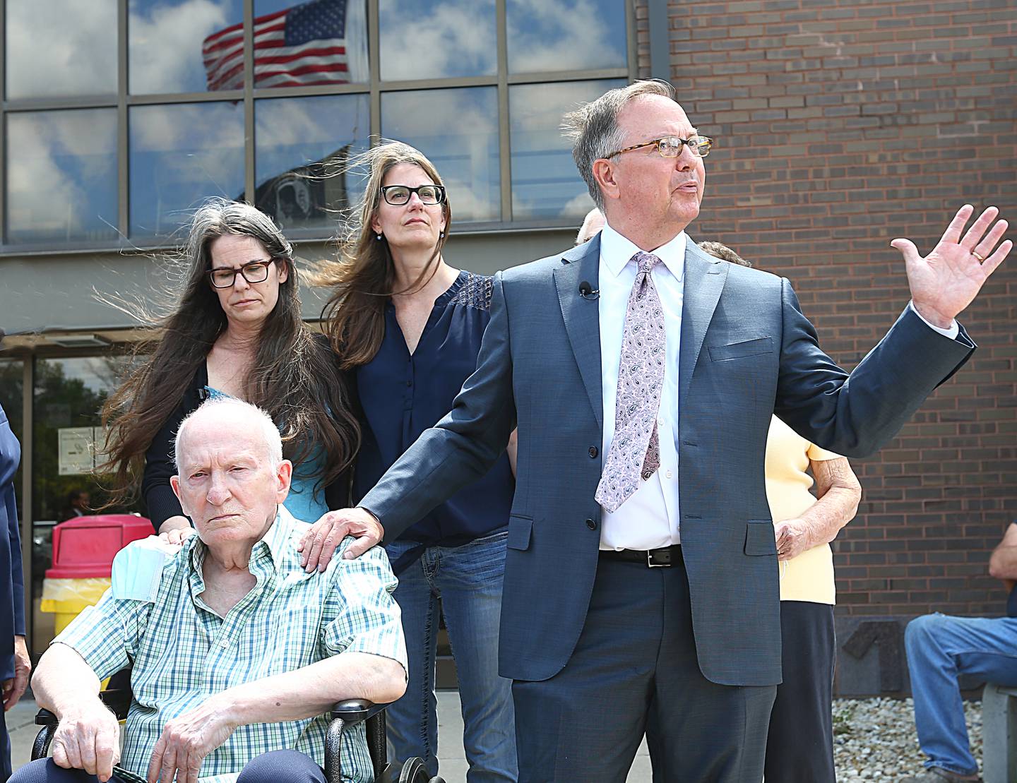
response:
[[[775,412],[810,441],[845,457],[868,457],[914,415],[974,352],[963,327],[940,335],[907,308],[848,375],[819,347],[787,280]]]

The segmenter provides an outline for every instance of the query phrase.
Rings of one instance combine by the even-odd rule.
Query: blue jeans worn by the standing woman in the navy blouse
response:
[[[519,777],[516,762],[512,680],[498,676],[498,623],[506,531],[462,546],[427,547],[399,575],[396,601],[410,663],[406,695],[385,711],[390,758],[402,764],[418,756],[428,774],[438,773],[438,606],[444,611],[459,695],[469,783],[502,783]],[[414,544],[395,541],[385,549],[395,562]]]

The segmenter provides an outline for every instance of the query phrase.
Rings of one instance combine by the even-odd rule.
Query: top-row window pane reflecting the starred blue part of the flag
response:
[[[254,86],[369,79],[366,0],[254,0]]]

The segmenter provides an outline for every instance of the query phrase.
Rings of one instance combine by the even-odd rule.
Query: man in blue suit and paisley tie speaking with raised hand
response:
[[[607,219],[599,236],[495,276],[476,372],[453,410],[305,539],[392,539],[482,475],[519,426],[501,611],[520,778],[623,781],[644,734],[655,781],[753,783],[781,678],[771,414],[851,457],[878,449],[974,349],[954,316],[1010,251],[962,207],[912,301],[850,375],[786,280],[702,252],[711,140],[666,82],[565,117]],[[992,228],[991,228],[992,227]]]

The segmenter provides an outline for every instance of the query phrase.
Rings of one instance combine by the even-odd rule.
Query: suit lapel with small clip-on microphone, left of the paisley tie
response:
[[[600,235],[585,245],[566,252],[564,263],[554,269],[554,285],[561,305],[565,333],[579,365],[590,407],[597,426],[604,426],[604,399],[600,386],[600,307],[595,299],[579,295],[579,284],[586,281],[594,290],[599,286]]]

